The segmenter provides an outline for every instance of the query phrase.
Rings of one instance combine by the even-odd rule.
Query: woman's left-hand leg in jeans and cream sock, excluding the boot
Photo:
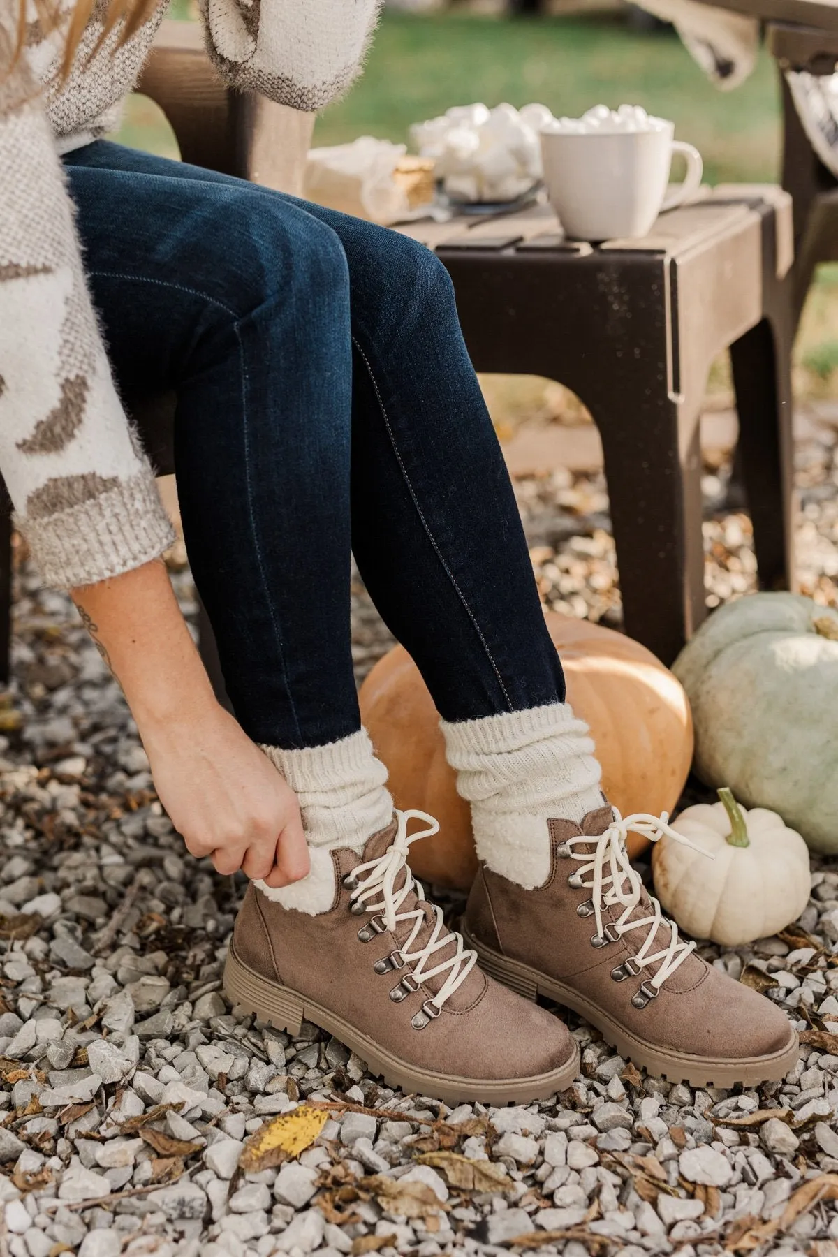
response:
[[[122,395],[177,391],[186,542],[236,716],[312,842],[364,841],[392,804],[352,670],[340,243],[281,197],[116,145],[67,167]]]

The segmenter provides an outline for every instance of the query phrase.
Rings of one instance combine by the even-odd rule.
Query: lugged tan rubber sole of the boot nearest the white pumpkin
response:
[[[579,992],[572,991],[564,983],[520,960],[499,955],[498,952],[492,952],[485,944],[471,938],[465,926],[460,926],[460,933],[466,947],[474,948],[477,953],[484,973],[503,982],[505,987],[511,987],[526,999],[535,999],[540,994],[564,1008],[572,1008],[574,1013],[579,1013],[592,1026],[596,1026],[606,1042],[614,1047],[621,1056],[633,1061],[648,1073],[666,1079],[667,1082],[686,1082],[691,1087],[734,1087],[737,1085],[754,1086],[759,1082],[779,1082],[798,1060],[798,1036],[792,1027],[789,1028],[793,1037],[788,1047],[771,1056],[753,1056],[740,1061],[712,1061],[702,1056],[688,1056],[685,1052],[656,1047],[653,1043],[632,1035]]]

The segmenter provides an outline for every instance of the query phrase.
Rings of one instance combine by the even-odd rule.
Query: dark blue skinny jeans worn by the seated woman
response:
[[[177,392],[186,547],[245,732],[290,748],[359,728],[351,551],[447,720],[563,700],[441,263],[118,145],[65,168],[117,383]]]

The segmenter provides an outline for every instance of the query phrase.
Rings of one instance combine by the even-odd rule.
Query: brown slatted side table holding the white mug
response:
[[[479,371],[549,376],[599,429],[626,631],[670,664],[704,618],[699,417],[730,348],[761,588],[792,562],[792,202],[729,186],[645,240],[573,244],[547,206],[403,229],[455,284]]]

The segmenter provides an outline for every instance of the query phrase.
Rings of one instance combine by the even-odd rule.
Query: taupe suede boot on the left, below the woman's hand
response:
[[[330,852],[325,913],[248,887],[225,969],[230,999],[291,1033],[305,1017],[408,1092],[505,1104],[563,1091],[578,1072],[574,1040],[486,978],[425,900],[405,862],[411,815],[397,812],[361,855]]]

